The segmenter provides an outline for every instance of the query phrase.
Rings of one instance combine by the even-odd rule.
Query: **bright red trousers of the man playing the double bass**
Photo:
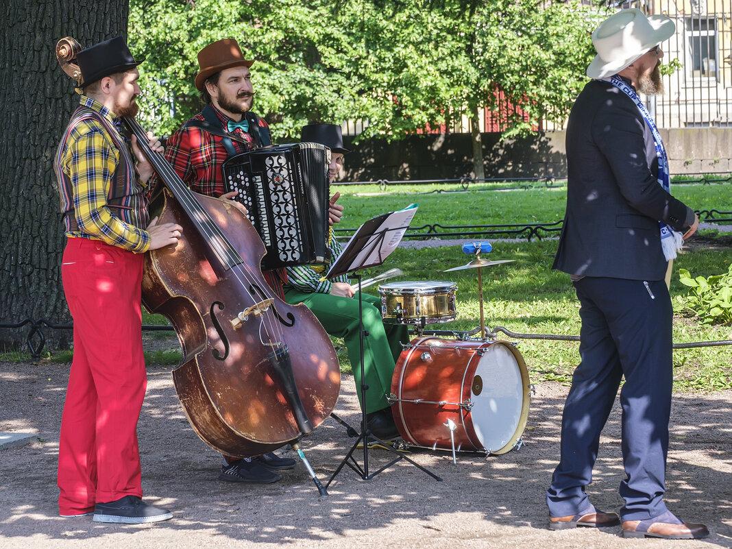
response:
[[[74,319],[74,359],[61,419],[59,512],[142,497],[137,423],[147,384],[143,255],[68,239],[61,276]]]

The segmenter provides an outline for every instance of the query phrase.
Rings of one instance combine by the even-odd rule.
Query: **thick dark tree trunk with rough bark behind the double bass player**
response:
[[[56,61],[56,42],[82,47],[127,32],[127,0],[7,0],[0,41],[4,143],[0,154],[0,324],[45,319],[70,324],[61,286],[66,239],[53,175],[61,132],[78,104],[74,83]],[[133,49],[134,51],[134,49]],[[41,326],[50,348],[70,345],[71,331]],[[0,328],[0,350],[26,343],[31,324]],[[36,335],[34,345],[40,343]]]

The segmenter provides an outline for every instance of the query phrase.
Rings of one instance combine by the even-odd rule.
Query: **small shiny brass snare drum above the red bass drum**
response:
[[[443,280],[390,282],[378,287],[381,317],[399,324],[436,324],[454,321],[458,285]]]

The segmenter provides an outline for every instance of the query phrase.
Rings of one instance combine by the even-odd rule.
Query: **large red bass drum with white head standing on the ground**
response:
[[[410,444],[505,454],[529,416],[529,373],[510,343],[417,337],[399,356],[392,411]]]

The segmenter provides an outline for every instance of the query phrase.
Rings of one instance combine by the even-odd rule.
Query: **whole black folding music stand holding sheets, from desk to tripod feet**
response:
[[[406,455],[404,455],[403,453],[398,452],[391,445],[386,444],[384,441],[381,440],[381,438],[373,436],[370,430],[368,430],[366,427],[366,407],[364,403],[366,402],[366,391],[368,389],[368,386],[365,383],[366,375],[364,367],[364,337],[366,333],[364,330],[362,317],[363,299],[361,297],[361,275],[352,273],[356,273],[357,271],[365,269],[367,267],[383,264],[384,260],[389,256],[389,254],[392,253],[399,245],[402,236],[409,227],[409,223],[411,222],[411,219],[412,217],[414,217],[414,213],[416,212],[417,206],[415,204],[411,204],[411,206],[408,206],[407,208],[400,210],[399,212],[390,212],[389,214],[378,215],[361,225],[358,231],[356,231],[356,234],[354,234],[348,244],[346,244],[346,247],[343,249],[343,253],[341,253],[340,257],[337,259],[337,261],[335,261],[335,263],[331,266],[326,274],[326,278],[337,277],[340,275],[349,275],[349,277],[358,280],[359,351],[361,353],[361,387],[359,389],[361,391],[361,432],[358,433],[353,427],[344,422],[343,419],[335,416],[335,414],[331,414],[339,423],[346,426],[349,436],[357,435],[357,438],[354,444],[351,446],[351,449],[346,454],[346,457],[341,460],[335,472],[332,474],[328,482],[326,482],[326,488],[329,487],[330,483],[333,482],[333,479],[335,479],[337,474],[340,473],[340,471],[343,469],[343,466],[347,465],[348,467],[350,467],[362,479],[370,480],[373,479],[373,477],[376,477],[377,474],[381,473],[381,471],[386,470],[400,460],[408,461],[415,467],[421,469],[422,471],[425,471],[425,473],[430,475],[430,477],[433,477],[433,479],[436,479],[438,481],[442,480],[436,474],[428,471],[427,468],[422,467],[421,465],[419,465],[419,463],[407,458]],[[388,239],[386,238],[387,235],[389,236]],[[384,448],[389,450],[389,452],[392,452],[396,456],[392,461],[387,463],[385,466],[379,468],[378,471],[374,471],[372,474],[369,474],[368,468],[369,441],[376,441],[380,443],[381,446],[383,446]],[[359,466],[359,463],[354,458],[354,452],[356,451],[359,442],[363,443],[364,449],[363,467]]]

